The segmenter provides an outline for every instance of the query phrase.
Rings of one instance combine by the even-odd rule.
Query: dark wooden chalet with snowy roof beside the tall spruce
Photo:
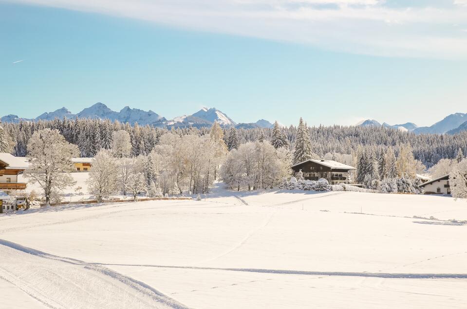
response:
[[[292,170],[294,172],[301,170],[307,180],[325,178],[330,184],[336,185],[340,183],[351,184],[353,179],[350,172],[355,168],[333,160],[310,159],[293,165]]]

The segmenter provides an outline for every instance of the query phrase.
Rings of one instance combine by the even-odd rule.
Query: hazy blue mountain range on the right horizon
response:
[[[461,131],[467,131],[467,114],[455,113],[448,115],[444,119],[430,125],[429,127],[418,127],[413,122],[407,122],[404,124],[390,125],[386,122],[380,123],[374,119],[367,119],[360,121],[357,125],[361,126],[384,126],[401,131],[409,131],[415,134],[456,134]]]

